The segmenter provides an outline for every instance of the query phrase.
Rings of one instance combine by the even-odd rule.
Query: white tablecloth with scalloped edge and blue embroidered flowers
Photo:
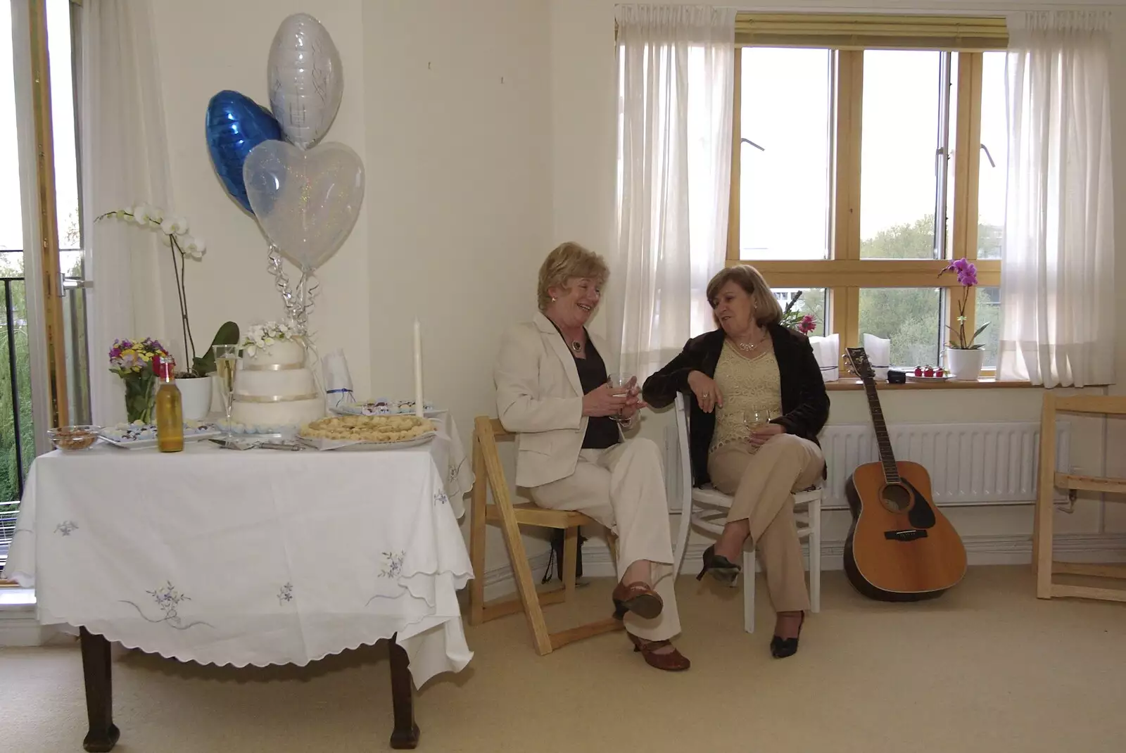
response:
[[[36,458],[5,575],[44,625],[204,664],[298,664],[397,634],[415,685],[472,657],[456,590],[473,485],[448,414],[428,445]]]

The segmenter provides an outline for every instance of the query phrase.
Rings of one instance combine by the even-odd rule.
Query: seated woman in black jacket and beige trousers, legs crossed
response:
[[[810,341],[780,324],[781,306],[758,270],[722,270],[707,297],[720,329],[685,343],[645,380],[642,394],[653,407],[673,402],[678,392],[692,395],[694,483],[711,481],[734,497],[698,579],[711,572],[734,583],[750,536],[777,612],[770,652],[790,656],[810,608],[793,493],[824,476],[817,432],[829,419],[829,395]]]

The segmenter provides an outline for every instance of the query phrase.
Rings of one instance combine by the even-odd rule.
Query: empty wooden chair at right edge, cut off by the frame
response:
[[[1044,393],[1044,411],[1040,414],[1039,488],[1036,500],[1036,517],[1033,519],[1033,572],[1036,573],[1036,595],[1039,599],[1079,597],[1126,601],[1126,590],[1124,589],[1070,585],[1052,580],[1055,573],[1126,579],[1126,564],[1053,561],[1052,516],[1055,510],[1053,497],[1057,487],[1069,491],[1109,492],[1119,496],[1117,499],[1105,497],[1107,502],[1126,502],[1126,496],[1124,496],[1126,495],[1126,478],[1080,476],[1056,470],[1055,422],[1057,411],[1126,415],[1126,397],[1110,395],[1056,397],[1051,391]]]

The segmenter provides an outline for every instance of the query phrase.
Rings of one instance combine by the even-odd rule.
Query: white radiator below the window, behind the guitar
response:
[[[890,424],[897,460],[927,469],[935,503],[1027,502],[1036,499],[1038,421],[1007,423]],[[1056,423],[1056,469],[1070,469],[1071,427]],[[878,459],[870,425],[839,424],[821,432],[829,468],[825,508],[847,509],[844,479],[861,463]],[[669,508],[680,509],[679,447],[676,425],[665,432]]]

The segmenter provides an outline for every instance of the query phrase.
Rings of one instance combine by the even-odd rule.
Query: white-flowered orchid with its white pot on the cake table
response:
[[[196,353],[196,343],[191,338],[191,324],[188,321],[188,297],[185,280],[187,269],[185,261],[190,258],[194,261],[202,261],[207,251],[207,246],[202,237],[188,235],[188,221],[184,217],[172,218],[160,207],[137,205],[124,209],[107,212],[95,219],[122,219],[136,223],[146,230],[153,230],[161,234],[161,242],[169,248],[172,254],[172,271],[176,275],[176,292],[180,304],[180,329],[184,335],[184,352],[187,355],[189,365],[187,369],[176,374],[177,386],[180,388],[184,405],[184,419],[186,421],[199,420],[211,412],[213,379],[215,370],[215,356],[212,347],[218,344],[235,344],[239,342],[239,325],[234,322],[225,322],[218,328],[212,347],[203,356]],[[155,386],[155,385],[154,385]]]

